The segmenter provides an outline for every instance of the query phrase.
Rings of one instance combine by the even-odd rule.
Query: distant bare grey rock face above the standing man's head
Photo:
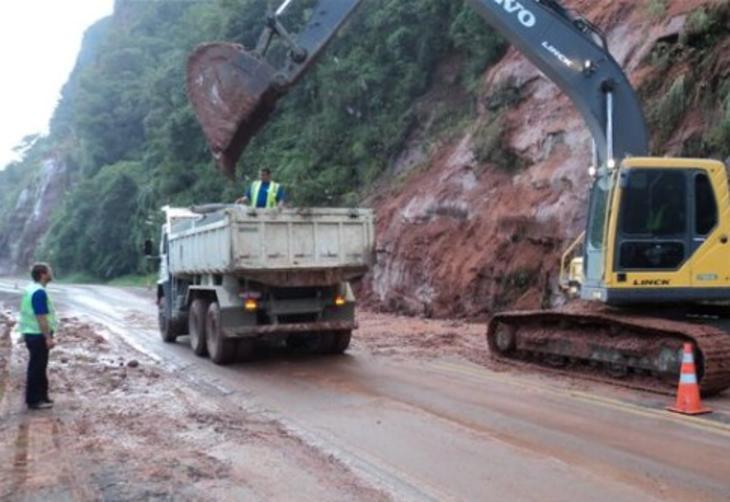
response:
[[[0,234],[0,275],[24,273],[31,265],[51,213],[68,188],[67,171],[60,160],[47,158],[32,185],[20,193]]]

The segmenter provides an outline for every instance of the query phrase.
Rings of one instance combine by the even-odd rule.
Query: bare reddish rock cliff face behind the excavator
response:
[[[646,2],[566,3],[604,30],[641,89],[667,73],[649,61],[657,44],[678,39],[688,14],[713,2],[669,2],[654,20]],[[724,46],[712,57],[721,60]],[[686,70],[690,58],[677,63]],[[681,153],[686,138],[707,127],[701,117],[680,122],[654,153]],[[490,148],[506,152],[499,167],[478,160],[485,134],[496,136]],[[403,187],[374,200],[378,264],[365,297],[426,316],[481,317],[561,302],[559,258],[585,225],[590,162],[590,135],[568,98],[511,49],[484,76],[476,123],[433,148],[426,169]]]

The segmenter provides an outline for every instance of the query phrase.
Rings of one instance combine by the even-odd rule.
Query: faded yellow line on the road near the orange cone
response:
[[[476,378],[484,382],[498,382],[511,385],[513,387],[520,387],[528,390],[538,390],[543,393],[548,393],[553,396],[560,398],[568,398],[574,401],[579,401],[586,404],[597,405],[603,408],[610,408],[617,411],[626,412],[632,415],[641,416],[644,418],[659,419],[665,422],[672,422],[678,425],[684,425],[694,429],[700,429],[705,432],[718,434],[724,437],[730,438],[730,425],[723,424],[721,422],[714,422],[703,418],[697,417],[676,417],[675,415],[669,414],[669,412],[659,411],[653,408],[646,408],[643,406],[627,403],[617,399],[611,399],[601,396],[589,394],[587,392],[576,391],[576,390],[563,390],[547,385],[540,385],[537,383],[528,383],[523,381],[515,380],[514,377],[502,376],[498,373],[493,373],[488,370],[479,370],[478,368],[471,368],[468,366],[461,366],[453,363],[435,363],[432,367],[439,369],[444,372],[451,374],[458,374],[460,376],[469,376]]]

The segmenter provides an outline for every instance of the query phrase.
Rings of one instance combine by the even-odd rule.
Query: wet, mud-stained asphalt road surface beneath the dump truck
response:
[[[0,291],[14,282],[0,280]],[[218,367],[164,344],[140,291],[53,285],[61,310],[104,325],[181,378],[266,413],[364,481],[413,500],[728,500],[730,399],[712,419],[665,398],[463,360],[347,355]],[[357,333],[355,334],[355,340]],[[286,482],[283,480],[283,482]],[[292,487],[295,490],[295,487]]]

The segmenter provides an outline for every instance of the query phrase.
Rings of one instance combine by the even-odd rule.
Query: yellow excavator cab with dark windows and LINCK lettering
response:
[[[564,256],[563,284],[611,305],[730,298],[729,198],[721,162],[625,159],[594,182],[583,253],[576,243]]]

